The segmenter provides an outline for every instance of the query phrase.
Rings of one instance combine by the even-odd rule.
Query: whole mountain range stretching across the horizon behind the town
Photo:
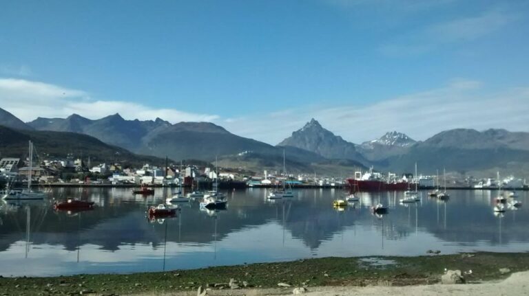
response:
[[[24,123],[0,109],[0,125],[35,132],[81,133],[134,153],[175,160],[212,161],[218,157],[221,166],[254,171],[280,168],[283,151],[287,154],[287,171],[290,172],[322,170],[330,173],[335,170],[351,174],[356,168],[368,166],[377,170],[411,172],[415,162],[424,173],[446,167],[458,172],[510,170],[527,174],[529,168],[529,133],[501,129],[446,130],[425,141],[415,141],[404,133],[392,131],[380,138],[354,144],[311,119],[290,137],[271,146],[234,135],[209,122],[171,124],[160,118],[126,120],[119,114],[95,120],[75,114],[64,119],[39,117]]]

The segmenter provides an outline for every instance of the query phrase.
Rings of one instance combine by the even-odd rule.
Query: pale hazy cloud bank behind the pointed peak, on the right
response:
[[[484,94],[481,82],[456,79],[446,87],[364,106],[310,106],[218,122],[232,133],[278,144],[314,117],[324,128],[360,143],[397,130],[424,140],[450,128],[529,131],[529,88]]]

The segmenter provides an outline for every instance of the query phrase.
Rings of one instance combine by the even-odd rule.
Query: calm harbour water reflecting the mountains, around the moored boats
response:
[[[342,190],[298,190],[290,201],[267,201],[265,189],[228,193],[225,211],[198,203],[178,216],[149,221],[148,205],[170,192],[134,196],[121,188],[55,188],[52,196],[96,202],[77,214],[55,212],[49,201],[0,203],[0,275],[132,273],[326,256],[424,255],[461,251],[529,251],[529,192],[523,206],[492,212],[497,192],[450,191],[447,203],[400,205],[402,193],[363,193],[355,207],[331,206]],[[371,205],[390,205],[383,218]]]

